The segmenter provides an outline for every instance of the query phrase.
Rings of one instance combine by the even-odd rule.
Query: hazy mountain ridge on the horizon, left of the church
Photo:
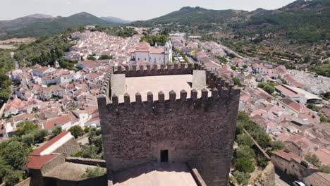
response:
[[[97,18],[90,13],[77,13],[68,17],[56,18],[35,18],[23,17],[11,21],[1,21],[0,29],[4,30],[0,34],[0,39],[12,37],[40,37],[51,35],[66,30],[68,27],[79,27],[81,25],[102,25],[115,26],[119,23],[111,23],[101,18]]]

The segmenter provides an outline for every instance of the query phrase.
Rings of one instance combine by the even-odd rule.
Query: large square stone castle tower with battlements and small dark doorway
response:
[[[198,64],[138,68],[111,68],[97,99],[109,185],[117,172],[149,161],[188,163],[207,185],[227,185],[240,89],[205,70],[208,89],[200,92],[149,92],[146,100],[138,92],[124,94],[123,101],[115,94],[111,97],[116,74],[192,75],[193,70],[204,70]]]

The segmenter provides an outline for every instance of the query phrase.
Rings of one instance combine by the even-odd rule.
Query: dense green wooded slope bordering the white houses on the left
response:
[[[73,45],[68,37],[68,35],[40,37],[30,44],[22,44],[18,47],[15,58],[20,66],[32,66],[36,63],[41,66],[53,65]]]

